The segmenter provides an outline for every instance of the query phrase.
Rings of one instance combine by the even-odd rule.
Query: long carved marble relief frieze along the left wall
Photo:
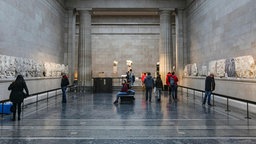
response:
[[[0,55],[0,79],[24,77],[58,77],[68,73],[68,66],[33,59]]]

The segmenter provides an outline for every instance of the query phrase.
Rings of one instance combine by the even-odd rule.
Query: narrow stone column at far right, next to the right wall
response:
[[[176,22],[176,74],[179,78],[179,84],[182,84],[182,75],[184,69],[184,34],[183,34],[183,10],[177,9],[175,12]]]

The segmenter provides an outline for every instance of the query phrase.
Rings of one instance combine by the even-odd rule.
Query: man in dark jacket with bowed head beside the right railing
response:
[[[205,95],[204,95],[203,105],[205,105],[206,99],[208,97],[208,106],[212,106],[211,94],[212,94],[212,91],[214,90],[215,90],[215,80],[214,80],[214,75],[211,73],[205,79]]]

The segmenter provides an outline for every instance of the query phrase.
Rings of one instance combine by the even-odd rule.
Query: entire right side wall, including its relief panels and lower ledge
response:
[[[200,69],[214,73],[215,92],[255,101],[256,2],[191,2],[186,9],[187,64],[196,63],[198,75],[205,75]],[[227,78],[220,78],[224,76]],[[203,77],[183,77],[183,80],[184,86],[204,90]]]

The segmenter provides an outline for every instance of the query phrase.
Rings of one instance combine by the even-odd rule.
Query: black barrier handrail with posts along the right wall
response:
[[[178,87],[181,87],[181,88],[186,88],[187,90],[190,89],[190,90],[194,90],[194,91],[199,91],[199,92],[202,92],[202,96],[203,96],[203,93],[205,92],[204,90],[200,90],[200,89],[195,89],[195,88],[191,88],[191,87],[186,87],[186,86],[182,86],[182,85],[179,85]],[[188,94],[188,93],[187,93]],[[236,97],[232,97],[232,96],[228,96],[228,95],[224,95],[224,94],[219,94],[219,93],[212,93],[213,95],[213,103],[214,103],[214,96],[219,96],[219,97],[224,97],[227,99],[227,110],[226,111],[230,111],[229,110],[229,99],[231,100],[236,100],[236,101],[240,101],[240,102],[245,102],[247,104],[247,116],[245,118],[247,119],[251,119],[249,117],[249,104],[254,104],[256,105],[256,102],[255,101],[251,101],[251,100],[246,100],[246,99],[241,99],[241,98],[236,98]],[[213,105],[214,106],[214,105]]]

